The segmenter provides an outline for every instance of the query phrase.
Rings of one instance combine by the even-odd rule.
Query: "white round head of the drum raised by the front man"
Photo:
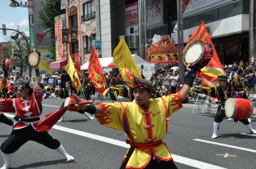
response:
[[[204,45],[203,42],[197,41],[189,44],[184,52],[184,63],[193,65],[198,63],[203,58]]]

